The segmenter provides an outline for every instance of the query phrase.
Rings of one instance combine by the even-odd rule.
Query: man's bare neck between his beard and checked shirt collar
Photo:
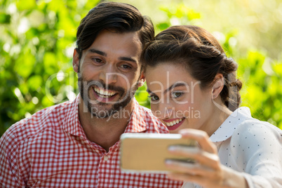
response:
[[[107,118],[98,118],[90,114],[83,100],[81,98],[80,100],[79,121],[88,140],[95,142],[108,152],[109,147],[112,147],[119,141],[119,137],[126,130],[133,110],[134,101],[131,100],[125,108],[116,112],[118,114],[112,114],[112,116]]]

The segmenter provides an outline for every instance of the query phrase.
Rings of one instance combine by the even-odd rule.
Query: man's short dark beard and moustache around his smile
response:
[[[107,103],[100,102],[98,100],[90,100],[90,92],[95,92],[93,89],[94,86],[105,90],[111,90],[116,93],[115,95],[119,95],[119,99],[116,102]],[[79,91],[81,98],[83,99],[83,103],[84,105],[87,105],[89,112],[98,118],[108,118],[126,107],[134,97],[137,88],[137,83],[135,83],[135,85],[126,92],[126,90],[122,87],[112,85],[106,86],[103,81],[86,81],[83,76],[79,76]],[[99,95],[98,93],[96,94]],[[106,109],[105,106],[109,104],[112,104],[112,108]]]

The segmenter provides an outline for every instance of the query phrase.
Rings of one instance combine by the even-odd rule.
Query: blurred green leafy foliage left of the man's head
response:
[[[72,71],[76,27],[97,3],[1,2],[0,135],[16,121],[77,93]]]

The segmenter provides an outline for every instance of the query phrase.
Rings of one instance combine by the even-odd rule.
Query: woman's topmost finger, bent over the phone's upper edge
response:
[[[213,154],[217,153],[217,148],[215,147],[213,142],[210,142],[209,136],[205,131],[196,130],[192,128],[185,128],[180,130],[179,133],[184,138],[196,140],[204,151]]]

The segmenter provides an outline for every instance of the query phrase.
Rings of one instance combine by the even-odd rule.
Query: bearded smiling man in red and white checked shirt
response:
[[[80,95],[4,133],[1,187],[180,187],[166,175],[119,168],[122,133],[168,133],[133,98],[145,81],[140,53],[154,37],[152,23],[133,6],[102,3],[81,20],[76,37]]]

